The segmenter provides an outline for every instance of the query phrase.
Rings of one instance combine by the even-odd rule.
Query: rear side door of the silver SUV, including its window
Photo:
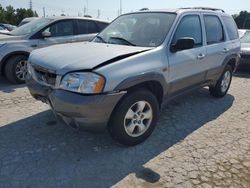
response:
[[[206,30],[206,80],[214,80],[220,71],[221,65],[230,49],[226,45],[226,34],[220,17],[212,14],[204,14],[204,26]]]

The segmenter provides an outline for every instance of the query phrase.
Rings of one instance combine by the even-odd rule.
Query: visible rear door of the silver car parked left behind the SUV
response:
[[[90,41],[99,32],[99,28],[93,20],[77,20],[77,35],[75,42]]]

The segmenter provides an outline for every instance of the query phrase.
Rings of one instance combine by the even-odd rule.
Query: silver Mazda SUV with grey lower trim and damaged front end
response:
[[[32,52],[27,85],[68,125],[108,128],[136,145],[152,133],[164,101],[205,86],[225,96],[239,51],[236,24],[221,10],[140,11],[118,17],[92,42]]]

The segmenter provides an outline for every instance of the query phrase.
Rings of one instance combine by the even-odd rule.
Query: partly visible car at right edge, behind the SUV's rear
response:
[[[239,68],[250,67],[250,30],[245,30],[241,37],[241,60]]]

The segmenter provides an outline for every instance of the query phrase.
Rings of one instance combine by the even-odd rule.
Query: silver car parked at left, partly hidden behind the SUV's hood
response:
[[[75,17],[39,18],[0,36],[0,73],[12,83],[24,83],[26,61],[37,48],[89,41],[108,22]],[[64,53],[64,52],[62,52]]]

